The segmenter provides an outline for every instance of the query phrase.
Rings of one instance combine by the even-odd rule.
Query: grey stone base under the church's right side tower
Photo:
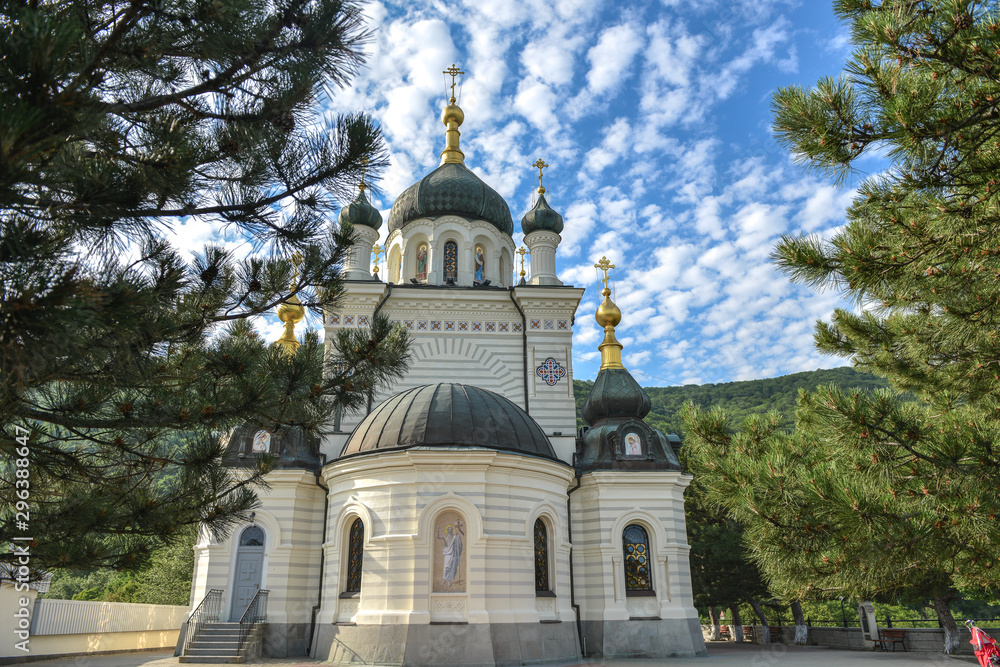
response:
[[[584,621],[588,658],[691,658],[708,655],[697,618]]]

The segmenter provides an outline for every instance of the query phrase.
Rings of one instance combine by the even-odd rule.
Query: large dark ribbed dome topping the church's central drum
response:
[[[459,162],[441,165],[404,190],[389,212],[389,231],[402,229],[417,218],[446,214],[486,220],[507,236],[514,233],[507,202]]]

